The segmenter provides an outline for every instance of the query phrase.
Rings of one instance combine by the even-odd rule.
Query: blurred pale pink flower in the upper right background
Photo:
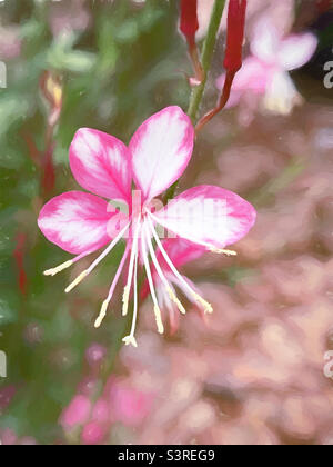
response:
[[[311,32],[282,37],[268,16],[261,17],[254,28],[251,54],[236,73],[226,107],[240,102],[248,92],[260,98],[271,112],[289,115],[303,99],[289,71],[303,67],[313,56],[317,39]],[[225,74],[216,86],[223,88]]]

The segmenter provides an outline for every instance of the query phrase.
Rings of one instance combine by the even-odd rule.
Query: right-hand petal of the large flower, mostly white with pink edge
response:
[[[248,234],[256,213],[232,191],[202,185],[184,191],[154,216],[182,238],[208,248],[224,248]]]

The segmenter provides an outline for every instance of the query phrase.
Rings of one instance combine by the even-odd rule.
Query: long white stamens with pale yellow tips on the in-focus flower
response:
[[[178,271],[175,266],[173,265],[172,260],[170,259],[168,252],[165,251],[158,234],[154,228],[154,216],[152,211],[154,211],[157,208],[160,208],[159,203],[161,201],[153,200],[150,202],[147,207],[141,207],[139,212],[132,213],[131,219],[125,223],[125,226],[119,231],[119,234],[114,237],[114,239],[109,244],[109,246],[102,251],[101,255],[90,265],[88,269],[85,269],[83,272],[81,272],[67,288],[65,292],[70,292],[75,288],[92,270],[102,261],[102,259],[105,258],[107,255],[109,255],[112,249],[115,247],[115,245],[125,236],[127,232],[129,232],[129,238],[127,239],[127,247],[125,251],[122,256],[122,259],[119,264],[119,267],[117,269],[117,272],[114,275],[114,278],[112,280],[109,294],[107,299],[103,301],[101,306],[100,314],[98,318],[95,319],[94,327],[99,328],[107,316],[107,310],[109,307],[109,304],[112,299],[114,289],[117,287],[117,284],[119,281],[119,278],[121,276],[121,272],[124,268],[124,265],[128,260],[128,257],[130,256],[129,260],[129,269],[128,269],[128,278],[127,284],[124,286],[123,296],[122,296],[122,315],[127,316],[129,310],[129,302],[130,302],[130,296],[131,291],[133,291],[133,315],[132,315],[132,325],[131,330],[128,336],[123,338],[123,341],[125,345],[132,345],[134,347],[138,346],[134,334],[135,334],[135,327],[137,327],[137,320],[138,320],[138,264],[139,264],[139,257],[141,255],[142,262],[144,265],[150,294],[153,301],[153,310],[157,321],[158,331],[160,334],[164,332],[164,326],[162,321],[162,314],[159,306],[158,295],[155,291],[153,275],[151,271],[151,265],[150,259],[151,258],[152,265],[154,267],[154,270],[163,285],[165,292],[169,297],[170,302],[173,302],[181,314],[185,314],[185,308],[179,300],[179,298],[175,295],[175,290],[171,282],[168,279],[168,276],[172,272],[174,277],[176,278],[176,284],[179,287],[185,291],[185,294],[190,297],[192,297],[192,300],[200,305],[200,307],[203,308],[204,312],[212,312],[212,306],[205,301],[194,289],[191,287],[191,285],[183,278],[183,276]],[[152,240],[155,241],[157,247],[159,251],[161,252],[162,257],[164,258],[168,267],[170,268],[171,272],[164,271],[165,266],[161,267],[153,247]],[[75,258],[73,258],[70,261],[67,261],[53,269],[49,269],[44,271],[47,276],[54,276],[56,274],[60,272],[61,270],[68,268],[69,266],[77,262],[79,259],[83,258],[84,256],[89,255],[91,251],[85,251]]]

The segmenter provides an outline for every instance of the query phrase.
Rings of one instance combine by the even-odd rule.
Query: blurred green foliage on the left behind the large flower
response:
[[[63,108],[53,138],[54,193],[78,188],[68,168],[68,148],[80,127],[128,141],[150,113],[171,103],[186,107],[189,99],[176,1],[150,0],[144,6],[87,1],[89,26],[53,36],[59,3],[67,2],[11,0],[0,6],[2,26],[18,27],[22,41],[20,56],[6,60],[8,87],[0,90],[0,349],[8,356],[8,378],[0,380],[0,389],[8,384],[17,387],[0,428],[43,444],[61,438],[57,421],[80,380],[89,342],[104,342],[113,356],[124,324],[110,314],[101,330],[91,326],[101,298],[94,290],[107,291],[121,247],[70,297],[63,292],[69,275],[51,280],[42,275],[68,256],[42,237],[36,222],[46,201],[40,168],[31,158],[31,145],[40,158],[46,149],[40,77],[44,70],[54,71],[63,82]],[[69,24],[79,13],[68,8]],[[18,285],[13,255],[18,234],[24,236],[26,295]]]

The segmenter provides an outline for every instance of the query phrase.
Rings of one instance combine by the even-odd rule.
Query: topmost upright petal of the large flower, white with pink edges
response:
[[[133,177],[145,200],[179,179],[191,159],[193,143],[193,126],[179,107],[167,107],[139,127],[130,150]]]

